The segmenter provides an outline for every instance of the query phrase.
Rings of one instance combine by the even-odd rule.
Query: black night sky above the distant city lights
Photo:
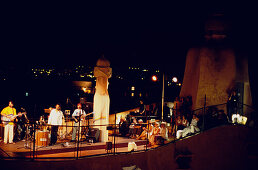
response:
[[[2,56],[9,63],[95,63],[184,66],[186,52],[203,40],[214,11],[232,20],[240,44],[255,33],[251,4],[106,3],[12,4],[4,12]],[[25,6],[23,8],[23,6]]]

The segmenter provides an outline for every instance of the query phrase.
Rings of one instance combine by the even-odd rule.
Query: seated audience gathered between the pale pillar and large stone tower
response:
[[[158,114],[153,119],[155,121],[148,119],[148,115],[153,110],[147,108],[153,108],[152,106],[154,105],[144,105],[143,101],[140,101],[138,112],[130,113],[125,119],[120,120],[120,134],[138,140],[148,139],[149,144],[153,146],[168,140],[168,124],[172,127],[170,135],[178,138],[200,131],[198,127],[199,118],[192,115],[192,98],[190,96],[177,97],[172,109],[165,105],[163,120],[161,115]],[[157,112],[161,112],[161,109]]]

